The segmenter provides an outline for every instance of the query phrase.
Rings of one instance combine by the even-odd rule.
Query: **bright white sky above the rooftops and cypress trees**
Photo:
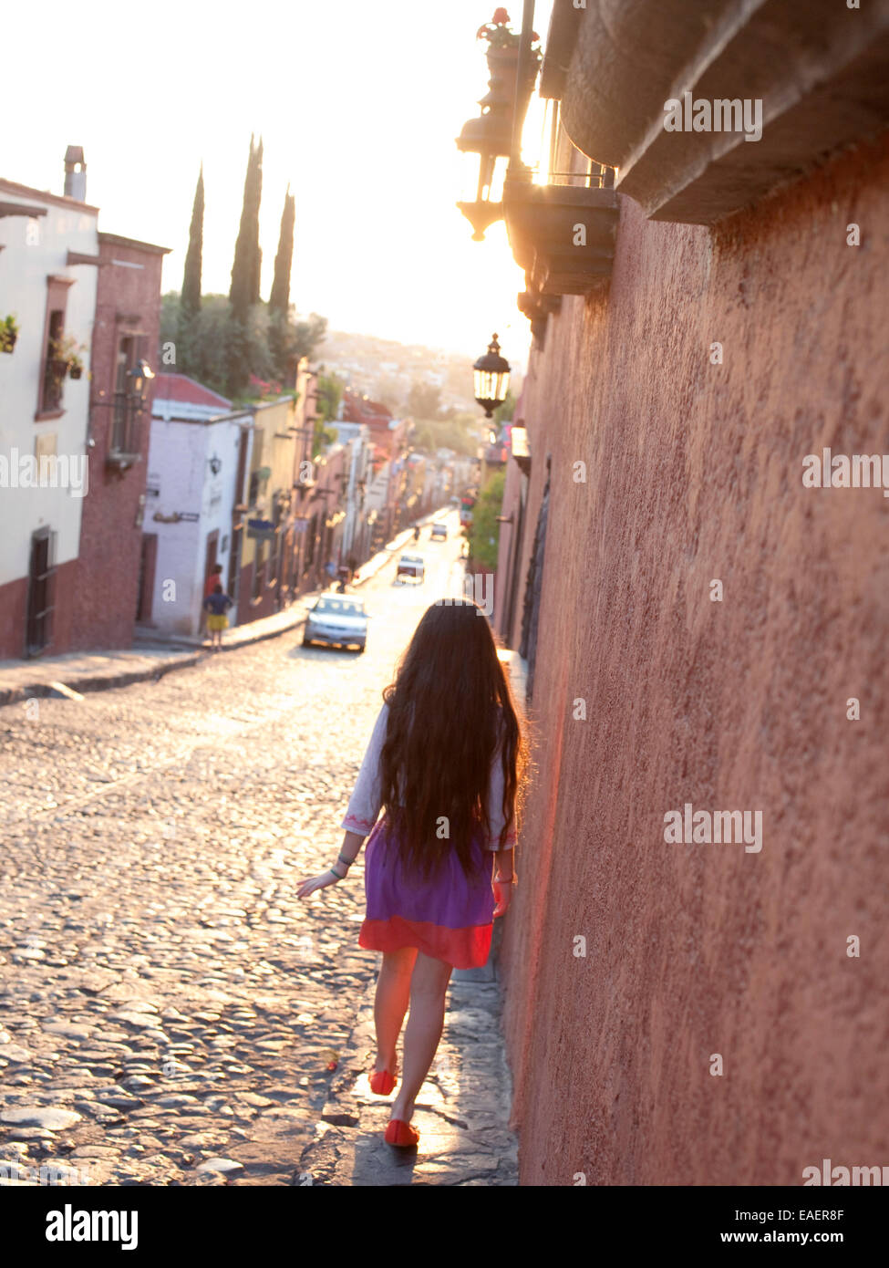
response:
[[[172,247],[181,288],[204,164],[204,292],[228,292],[250,133],[264,141],[263,298],[288,181],[297,199],[292,299],[331,328],[465,353],[492,330],[524,361],[524,275],[502,222],[484,242],[454,203],[454,145],[487,91],[493,0],[43,0],[4,9],[0,82],[15,126],[0,175],[62,191],[86,157],[100,228]],[[514,29],[521,3],[507,6]],[[545,38],[550,0],[536,5]],[[477,167],[474,169],[477,172]]]

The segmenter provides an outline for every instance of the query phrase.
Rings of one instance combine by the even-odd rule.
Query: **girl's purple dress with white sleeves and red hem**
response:
[[[424,955],[444,960],[455,969],[473,969],[486,964],[493,929],[493,891],[491,867],[486,857],[500,850],[503,827],[503,772],[500,751],[491,763],[488,782],[488,814],[491,834],[487,841],[473,842],[473,861],[478,864],[467,876],[453,852],[439,875],[430,880],[406,875],[398,858],[392,828],[380,812],[379,757],[386,741],[388,705],[383,705],[361,762],[355,791],[349,801],[342,828],[368,836],[364,860],[365,919],[359,945],[370,951],[397,951],[417,947]],[[505,850],[515,846],[515,827],[506,837]]]

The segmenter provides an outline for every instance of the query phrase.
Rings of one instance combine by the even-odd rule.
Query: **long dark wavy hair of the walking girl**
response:
[[[491,626],[472,600],[432,604],[394,682],[380,754],[382,803],[407,870],[436,872],[455,852],[473,871],[473,838],[487,838],[488,777],[503,770],[501,848],[512,825],[525,744]],[[440,831],[446,818],[446,834]]]

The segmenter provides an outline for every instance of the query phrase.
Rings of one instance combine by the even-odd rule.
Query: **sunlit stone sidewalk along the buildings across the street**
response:
[[[438,515],[421,522],[431,522]],[[372,581],[397,550],[412,538],[411,530],[399,534],[383,550],[378,552],[359,569],[359,581],[354,588],[360,588]],[[268,638],[278,638],[288,630],[297,629],[306,620],[306,612],[323,591],[311,591],[301,595],[289,607],[273,616],[236,625],[226,631],[222,650],[232,652],[240,647],[260,643]],[[134,682],[150,678],[157,681],[174,670],[184,670],[197,664],[208,653],[209,642],[197,638],[176,640],[141,639],[132,648],[110,652],[71,652],[65,656],[36,657],[29,661],[0,661],[0,708],[18,704],[34,696],[67,696],[77,699],[88,691],[107,691],[112,687],[127,687]]]

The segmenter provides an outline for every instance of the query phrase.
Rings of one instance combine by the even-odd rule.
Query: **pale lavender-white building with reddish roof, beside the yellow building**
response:
[[[232,527],[250,470],[254,417],[249,410],[228,412],[230,404],[184,374],[159,375],[145,507],[145,533],[156,534],[157,545],[146,624],[166,637],[198,635],[213,564],[222,564],[223,588],[236,588]],[[237,607],[228,619],[236,623]]]

